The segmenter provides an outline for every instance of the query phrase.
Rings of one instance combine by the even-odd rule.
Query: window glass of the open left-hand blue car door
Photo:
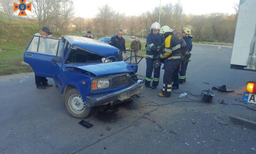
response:
[[[59,48],[58,48],[59,47]],[[59,40],[34,36],[27,51],[40,52],[44,54],[62,54],[62,45]]]

